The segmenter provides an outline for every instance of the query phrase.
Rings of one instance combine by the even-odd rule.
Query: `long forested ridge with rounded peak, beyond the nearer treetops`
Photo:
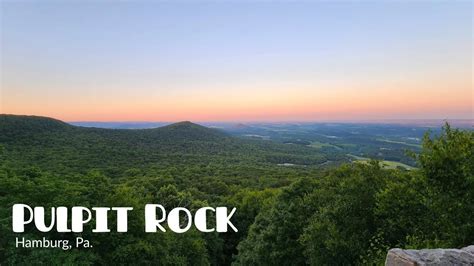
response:
[[[8,164],[120,176],[129,168],[180,165],[318,167],[326,158],[309,147],[245,140],[189,121],[153,129],[73,126],[36,116],[0,115],[0,146]]]

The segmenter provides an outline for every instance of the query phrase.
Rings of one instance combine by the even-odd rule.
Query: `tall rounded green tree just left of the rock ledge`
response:
[[[390,178],[392,172],[382,170],[374,161],[343,166],[320,181],[309,196],[315,204],[314,214],[300,238],[308,262],[358,261],[377,229],[373,213],[376,193]]]

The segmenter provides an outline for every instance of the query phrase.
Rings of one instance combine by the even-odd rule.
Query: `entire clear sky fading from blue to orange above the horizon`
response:
[[[0,0],[0,113],[473,119],[471,1]]]

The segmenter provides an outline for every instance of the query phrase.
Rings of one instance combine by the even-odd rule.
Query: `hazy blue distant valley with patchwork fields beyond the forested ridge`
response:
[[[438,121],[442,125],[442,121]],[[110,128],[111,123],[72,123],[79,126]],[[154,127],[159,123],[116,123],[116,128]],[[160,124],[161,125],[161,124]],[[436,134],[439,127],[421,124],[376,123],[204,123],[231,136],[248,141],[272,141],[293,146],[295,149],[310,147],[323,156],[324,165],[351,162],[359,156],[393,162],[405,168],[416,167],[407,152],[418,153],[426,131]],[[468,124],[464,123],[463,126]],[[291,163],[291,162],[280,162]]]

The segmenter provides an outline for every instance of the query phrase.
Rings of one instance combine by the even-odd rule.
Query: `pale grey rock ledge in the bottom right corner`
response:
[[[462,249],[399,249],[388,251],[386,266],[470,265],[474,266],[474,245]]]

